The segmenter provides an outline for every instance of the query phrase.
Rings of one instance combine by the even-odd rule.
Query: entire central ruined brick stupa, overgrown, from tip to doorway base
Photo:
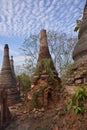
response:
[[[60,88],[61,80],[49,52],[46,30],[41,30],[40,51],[31,85],[34,107],[48,107],[57,103]]]

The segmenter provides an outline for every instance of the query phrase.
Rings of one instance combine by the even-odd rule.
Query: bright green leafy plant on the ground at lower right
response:
[[[87,98],[87,86],[80,87],[69,97],[67,109],[73,109],[76,114],[84,113],[84,100]]]

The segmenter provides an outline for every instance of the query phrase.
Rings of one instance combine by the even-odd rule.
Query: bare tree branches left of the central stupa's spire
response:
[[[37,63],[37,57],[39,52],[39,35],[32,35],[26,39],[20,48],[21,53],[25,56],[25,63],[23,64],[24,69],[31,76],[35,70],[35,66]]]

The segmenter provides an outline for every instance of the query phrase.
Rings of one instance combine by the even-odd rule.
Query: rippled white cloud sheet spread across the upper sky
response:
[[[39,31],[41,27],[47,30],[50,27],[59,30],[60,27],[60,30],[67,31],[62,26],[69,24],[66,21],[71,21],[71,16],[70,24],[73,24],[79,15],[79,6],[84,7],[84,4],[85,0],[0,0],[0,35],[25,36]],[[78,8],[76,5],[79,5]]]

